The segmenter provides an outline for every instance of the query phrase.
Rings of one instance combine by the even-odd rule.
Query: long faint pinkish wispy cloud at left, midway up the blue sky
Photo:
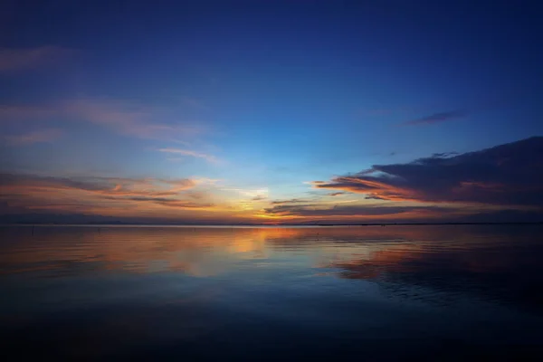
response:
[[[121,135],[186,143],[205,132],[201,126],[181,122],[167,110],[121,100],[78,99],[34,106],[0,106],[0,124],[43,122],[49,119],[83,121],[105,127]],[[175,119],[175,123],[157,122]]]

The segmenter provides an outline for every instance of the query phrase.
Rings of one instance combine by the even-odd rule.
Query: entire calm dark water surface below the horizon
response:
[[[3,360],[543,352],[540,226],[4,227],[0,240]]]

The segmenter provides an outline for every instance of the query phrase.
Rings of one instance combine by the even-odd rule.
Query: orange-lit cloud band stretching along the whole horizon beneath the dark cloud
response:
[[[0,215],[59,213],[115,216],[144,223],[325,223],[381,224],[387,222],[461,221],[462,217],[496,213],[466,207],[435,205],[271,205],[262,209],[267,189],[224,189],[205,178],[53,177],[0,174]],[[240,199],[238,194],[248,196]],[[346,200],[350,201],[350,200]],[[353,200],[356,201],[356,200]],[[498,210],[501,211],[501,210]],[[498,214],[498,216],[500,216]],[[510,217],[505,214],[503,217]],[[513,214],[525,217],[524,214]],[[135,217],[140,219],[134,219]],[[490,215],[489,217],[494,217]],[[131,219],[130,219],[131,218]],[[141,218],[147,218],[146,221]],[[5,218],[4,218],[5,220]],[[11,220],[8,218],[8,220]],[[17,221],[20,219],[14,219]],[[50,220],[50,219],[47,219]],[[62,218],[62,220],[71,220]],[[78,219],[79,220],[79,219]],[[465,219],[463,219],[465,221]]]

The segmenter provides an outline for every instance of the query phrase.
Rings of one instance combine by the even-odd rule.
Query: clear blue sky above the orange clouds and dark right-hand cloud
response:
[[[7,1],[1,171],[213,180],[205,218],[243,221],[337,205],[311,181],[541,135],[538,9],[475,3]],[[3,213],[52,212],[19,191]]]

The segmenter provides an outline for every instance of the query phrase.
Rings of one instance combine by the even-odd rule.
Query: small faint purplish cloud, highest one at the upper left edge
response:
[[[37,48],[0,48],[0,72],[36,69],[59,62],[71,52],[73,51],[51,45]]]

